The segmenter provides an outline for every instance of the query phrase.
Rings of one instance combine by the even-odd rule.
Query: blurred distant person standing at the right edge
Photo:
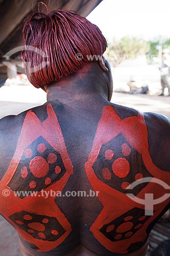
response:
[[[167,87],[168,89],[168,96],[170,96],[170,85],[169,85],[169,81],[167,78],[168,75],[168,71],[169,71],[169,66],[170,66],[170,62],[169,59],[166,56],[166,51],[162,52],[162,64],[161,64],[161,87],[162,87],[162,92],[160,94],[160,96],[164,95],[164,89]]]

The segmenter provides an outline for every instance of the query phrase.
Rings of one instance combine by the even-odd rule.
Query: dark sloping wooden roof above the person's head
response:
[[[1,56],[15,47],[23,45],[22,27],[25,18],[34,11],[37,11],[37,3],[41,1],[5,0],[2,3],[0,8],[0,24],[4,24],[4,26],[1,26],[0,29]],[[54,9],[75,10],[78,14],[87,16],[102,0],[43,0],[43,2],[48,7],[48,11]],[[5,38],[4,41],[3,38]]]

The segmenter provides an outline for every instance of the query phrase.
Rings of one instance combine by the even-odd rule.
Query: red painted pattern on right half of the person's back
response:
[[[128,214],[128,211],[138,209],[137,215],[139,215],[140,210],[143,211],[144,209],[144,205],[138,204],[131,200],[126,195],[126,191],[125,193],[122,193],[117,189],[110,187],[109,185],[105,184],[105,182],[101,181],[94,172],[93,164],[96,162],[96,160],[98,160],[102,146],[113,138],[116,138],[116,136],[119,134],[122,134],[127,143],[129,143],[129,145],[134,148],[138,154],[141,155],[144,166],[147,168],[151,177],[153,176],[166,183],[168,182],[169,184],[170,174],[159,169],[156,165],[154,165],[151,159],[149,153],[147,126],[145,125],[143,115],[139,113],[137,117],[133,116],[122,120],[115,113],[112,106],[105,106],[103,108],[101,119],[98,123],[91,153],[89,155],[88,161],[85,163],[85,170],[88,180],[94,191],[99,191],[99,201],[103,205],[102,211],[100,212],[98,218],[96,218],[94,223],[91,225],[90,230],[94,237],[106,249],[114,253],[124,254],[128,253],[128,248],[131,244],[145,241],[147,238],[147,227],[167,205],[168,199],[157,205],[154,205],[154,215],[149,217],[140,217],[138,219],[138,223],[136,223],[135,226],[133,223],[134,216],[127,216],[121,220],[121,222],[123,222],[122,224],[120,224],[118,227],[114,227],[114,221],[116,223],[116,220],[121,218],[121,216],[124,214]],[[131,154],[131,148],[127,143],[124,143],[121,148],[124,156],[129,156]],[[111,151],[107,150],[105,153],[105,158],[112,159],[113,161],[112,175],[115,175],[120,180],[123,180],[123,178],[128,176],[130,173],[129,162],[126,160],[126,158],[118,158],[114,160],[114,157],[112,158],[112,156],[113,154],[111,154]],[[100,172],[100,170],[98,170],[98,172]],[[109,175],[109,169],[103,169],[102,173],[104,173],[103,178],[106,180],[106,182],[107,180],[110,182],[113,179],[111,179]],[[142,174],[136,174],[136,180],[141,178]],[[123,189],[126,189],[128,185],[129,182],[122,182]],[[137,197],[144,198],[145,193],[153,193],[153,191],[154,198],[159,198],[162,191],[157,189],[157,185],[155,183],[147,184],[140,190],[140,192],[137,194]],[[104,228],[106,230],[105,233],[114,231],[114,238],[112,238],[112,240],[110,240],[109,237],[106,237],[106,234],[103,232]]]

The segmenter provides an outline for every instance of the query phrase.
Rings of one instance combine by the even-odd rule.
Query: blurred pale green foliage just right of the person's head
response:
[[[149,49],[150,44],[147,41],[137,37],[124,36],[120,40],[114,38],[108,44],[106,55],[111,65],[116,67],[123,60],[133,59],[148,53]]]

